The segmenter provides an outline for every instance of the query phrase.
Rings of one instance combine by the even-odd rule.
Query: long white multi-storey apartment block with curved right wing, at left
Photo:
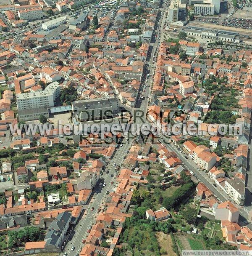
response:
[[[16,95],[18,110],[36,107],[53,107],[55,99],[60,95],[60,86],[56,83],[48,85],[45,91],[32,91]]]

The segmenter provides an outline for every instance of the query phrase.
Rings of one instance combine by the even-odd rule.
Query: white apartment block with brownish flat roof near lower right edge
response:
[[[245,183],[242,179],[235,177],[226,180],[224,191],[234,202],[243,205],[245,199]]]

